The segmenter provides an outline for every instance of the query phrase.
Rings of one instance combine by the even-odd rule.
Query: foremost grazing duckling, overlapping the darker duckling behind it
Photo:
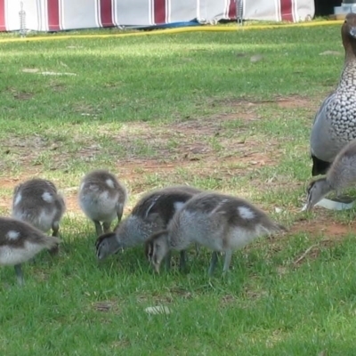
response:
[[[203,192],[190,198],[174,214],[166,230],[147,239],[146,254],[155,271],[159,272],[162,260],[171,250],[182,251],[195,242],[214,251],[209,276],[214,272],[217,252],[225,253],[225,274],[229,271],[233,250],[260,236],[283,230],[286,229],[242,198]]]

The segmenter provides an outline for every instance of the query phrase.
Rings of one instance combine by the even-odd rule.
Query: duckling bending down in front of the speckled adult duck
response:
[[[356,140],[353,140],[337,154],[334,162],[328,169],[327,175],[309,184],[307,188],[307,202],[303,210],[311,210],[330,191],[336,190],[336,194],[339,195],[341,190],[352,186],[355,182]]]

